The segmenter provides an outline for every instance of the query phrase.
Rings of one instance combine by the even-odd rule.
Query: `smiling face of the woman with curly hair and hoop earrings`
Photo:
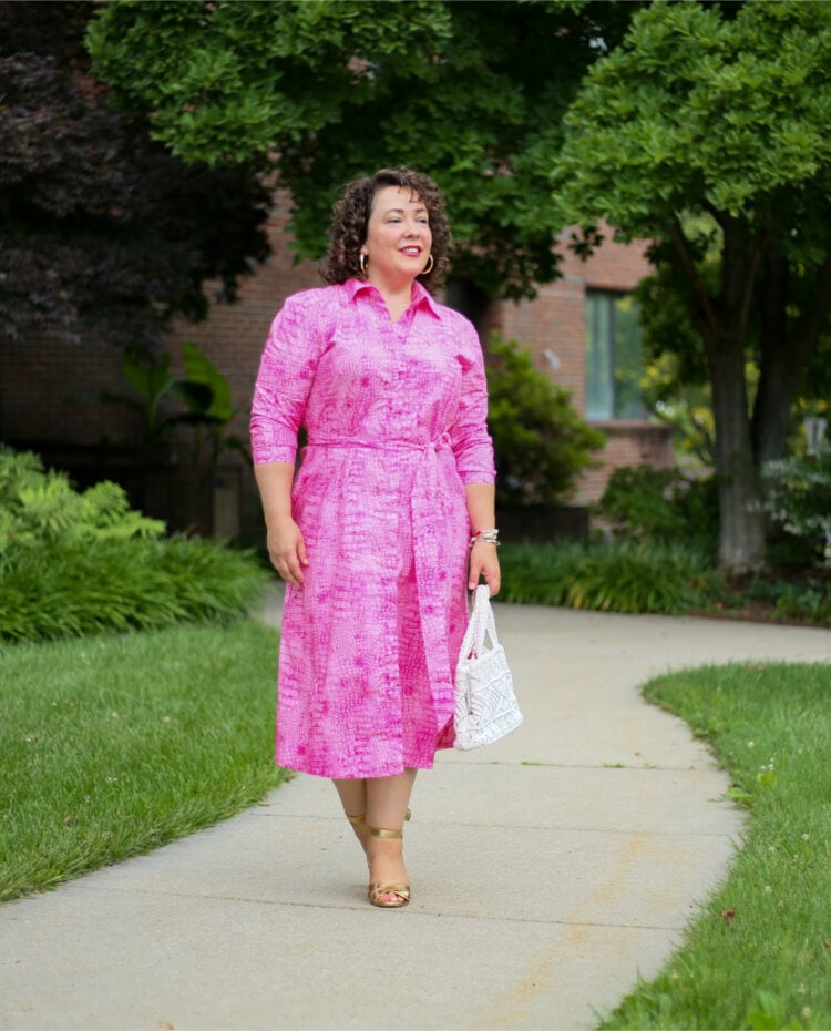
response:
[[[407,186],[384,186],[375,195],[361,248],[367,278],[394,289],[424,270],[433,236],[423,201]]]

